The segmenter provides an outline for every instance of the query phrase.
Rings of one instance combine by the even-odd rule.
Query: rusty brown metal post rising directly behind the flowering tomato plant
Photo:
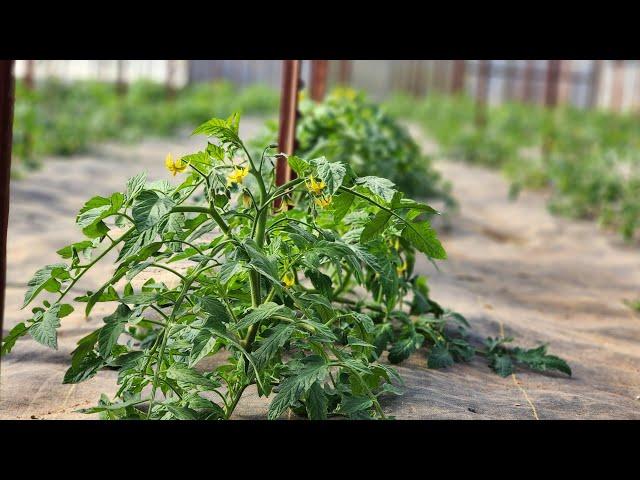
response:
[[[298,118],[298,90],[300,88],[301,60],[283,60],[282,90],[280,93],[280,122],[278,149],[285,155],[293,155],[296,150],[296,121]],[[276,163],[276,185],[284,185],[291,180],[291,168],[284,155],[278,155]],[[280,206],[280,198],[274,206]]]

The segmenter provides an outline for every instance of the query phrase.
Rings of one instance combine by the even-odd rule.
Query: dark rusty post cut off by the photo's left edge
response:
[[[7,285],[7,231],[14,102],[13,64],[13,60],[0,60],[0,335],[2,335],[4,324]]]

